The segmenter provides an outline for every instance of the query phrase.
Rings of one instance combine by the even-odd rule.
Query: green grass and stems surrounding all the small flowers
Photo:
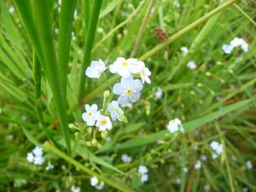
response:
[[[105,182],[102,191],[256,191],[254,9],[239,0],[1,1],[0,191],[97,191],[92,176]],[[224,54],[235,37],[249,51]],[[151,84],[123,108],[128,122],[101,134],[81,114],[85,104],[106,107],[113,95],[104,92],[120,77],[107,69],[90,79],[85,70],[92,60],[111,65],[131,55],[151,70]],[[186,67],[190,60],[196,70]],[[175,118],[185,133],[166,129]],[[218,159],[213,140],[223,144]],[[44,149],[42,166],[26,159],[36,145]],[[46,171],[48,164],[55,168]],[[149,169],[146,183],[139,165]]]

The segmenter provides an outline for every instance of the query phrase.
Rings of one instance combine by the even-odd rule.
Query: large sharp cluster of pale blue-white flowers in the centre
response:
[[[99,128],[100,132],[106,132],[112,129],[112,122],[118,119],[122,122],[127,122],[124,116],[124,111],[122,107],[127,107],[132,105],[132,103],[137,102],[140,97],[140,92],[142,91],[143,84],[145,82],[151,83],[149,76],[151,72],[145,67],[145,64],[137,60],[136,58],[117,58],[112,65],[110,65],[110,73],[118,74],[121,76],[121,81],[117,82],[113,87],[114,95],[119,95],[116,100],[108,100],[110,97],[110,92],[106,94],[105,102],[103,103],[102,110],[98,110],[97,105],[93,104],[85,105],[85,110],[82,114],[82,119],[87,123],[88,126],[94,126]],[[90,66],[86,69],[85,75],[88,78],[100,78],[101,74],[107,69],[105,63],[102,60],[92,61]],[[139,75],[141,80],[134,79],[133,75]],[[109,114],[108,117],[106,114]]]

